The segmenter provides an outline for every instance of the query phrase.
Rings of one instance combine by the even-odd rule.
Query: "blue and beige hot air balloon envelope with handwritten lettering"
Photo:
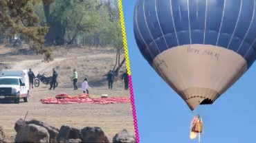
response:
[[[255,0],[138,0],[141,54],[194,110],[212,104],[256,58]]]

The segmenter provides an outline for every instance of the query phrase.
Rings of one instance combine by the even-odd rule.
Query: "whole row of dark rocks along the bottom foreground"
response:
[[[86,126],[77,129],[62,125],[60,129],[39,120],[17,120],[17,135],[13,142],[136,142],[134,135],[126,129],[119,131],[111,141],[100,127]],[[0,126],[0,142],[6,142],[3,127]]]

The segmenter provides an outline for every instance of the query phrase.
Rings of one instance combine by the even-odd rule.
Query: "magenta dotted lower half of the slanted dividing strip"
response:
[[[130,90],[130,95],[131,95],[131,108],[132,108],[132,114],[134,116],[134,131],[136,135],[136,142],[140,142],[140,138],[138,137],[138,123],[137,123],[137,116],[136,116],[136,109],[135,109],[135,103],[134,103],[134,89],[132,87],[132,82],[131,82],[131,75],[128,75],[129,79],[129,90]]]

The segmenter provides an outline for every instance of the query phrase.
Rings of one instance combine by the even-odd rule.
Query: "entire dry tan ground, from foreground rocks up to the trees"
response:
[[[71,50],[67,51],[69,51],[70,53]],[[124,83],[122,83],[120,79],[114,82],[113,89],[110,90],[107,88],[107,80],[105,79],[105,77],[102,77],[102,75],[105,72],[107,72],[109,67],[111,67],[113,63],[115,63],[115,60],[113,60],[115,59],[115,53],[111,52],[111,50],[107,50],[108,52],[97,51],[101,50],[94,50],[94,58],[90,58],[90,56],[79,55],[81,51],[77,50],[73,50],[73,52],[71,52],[73,53],[73,55],[67,54],[66,56],[63,56],[63,54],[60,54],[60,52],[56,52],[56,60],[52,63],[49,63],[48,65],[46,63],[39,62],[41,59],[40,56],[31,56],[31,54],[13,54],[13,52],[10,52],[0,54],[0,62],[17,61],[17,58],[20,59],[19,62],[28,61],[28,59],[30,59],[30,63],[21,62],[6,65],[8,67],[19,67],[23,69],[28,69],[32,66],[33,69],[35,69],[38,72],[42,71],[43,69],[44,71],[51,72],[52,67],[58,67],[57,70],[60,71],[60,76],[62,75],[62,73],[65,72],[66,69],[68,69],[68,72],[70,72],[69,69],[73,69],[73,63],[65,63],[65,58],[68,57],[77,59],[77,56],[79,56],[78,58],[81,58],[82,61],[86,61],[86,64],[80,64],[90,66],[90,68],[84,68],[82,65],[80,65],[78,66],[79,68],[76,68],[79,69],[77,71],[78,73],[81,73],[83,71],[84,74],[82,75],[86,77],[89,76],[89,78],[91,79],[91,89],[89,89],[89,95],[91,96],[91,98],[100,97],[101,94],[108,94],[109,96],[130,97],[129,90],[124,90]],[[77,54],[75,54],[75,52],[77,52]],[[58,53],[60,54],[59,56]],[[88,52],[86,54],[88,54]],[[84,60],[83,58],[88,59]],[[98,63],[98,65],[96,63]],[[95,64],[97,65],[97,67],[93,67],[93,65]],[[113,136],[116,135],[116,133],[118,133],[118,131],[122,129],[127,129],[130,133],[135,134],[130,103],[42,104],[39,101],[40,99],[53,98],[56,95],[63,93],[68,94],[70,96],[79,95],[82,93],[80,83],[81,79],[78,83],[79,89],[74,91],[72,87],[72,82],[71,80],[69,80],[69,76],[60,76],[59,86],[55,90],[49,90],[49,86],[46,87],[46,85],[39,85],[39,87],[34,87],[33,89],[30,89],[30,98],[28,102],[23,102],[23,100],[21,99],[21,102],[19,104],[0,103],[0,125],[3,126],[8,142],[14,142],[14,138],[16,135],[14,129],[15,122],[17,122],[19,118],[24,119],[27,111],[28,115],[26,116],[26,120],[40,120],[42,122],[45,122],[46,124],[55,126],[59,129],[63,124],[68,124],[80,129],[84,128],[85,126],[99,126],[107,135],[109,141],[112,141]]]

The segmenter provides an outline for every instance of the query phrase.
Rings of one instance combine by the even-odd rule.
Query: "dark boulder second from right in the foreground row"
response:
[[[100,127],[85,127],[81,130],[82,142],[109,142],[109,139]]]

